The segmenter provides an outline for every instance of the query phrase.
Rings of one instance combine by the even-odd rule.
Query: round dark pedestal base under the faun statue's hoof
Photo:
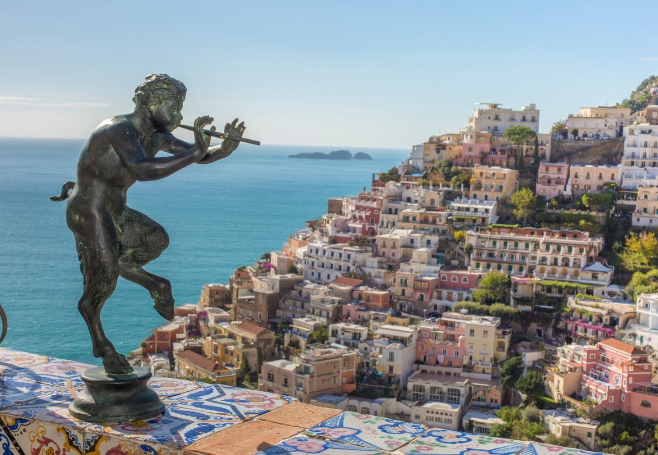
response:
[[[159,416],[164,412],[164,403],[147,387],[150,377],[151,371],[139,367],[123,375],[109,375],[103,367],[89,368],[82,373],[86,387],[68,410],[75,418],[103,423]]]

